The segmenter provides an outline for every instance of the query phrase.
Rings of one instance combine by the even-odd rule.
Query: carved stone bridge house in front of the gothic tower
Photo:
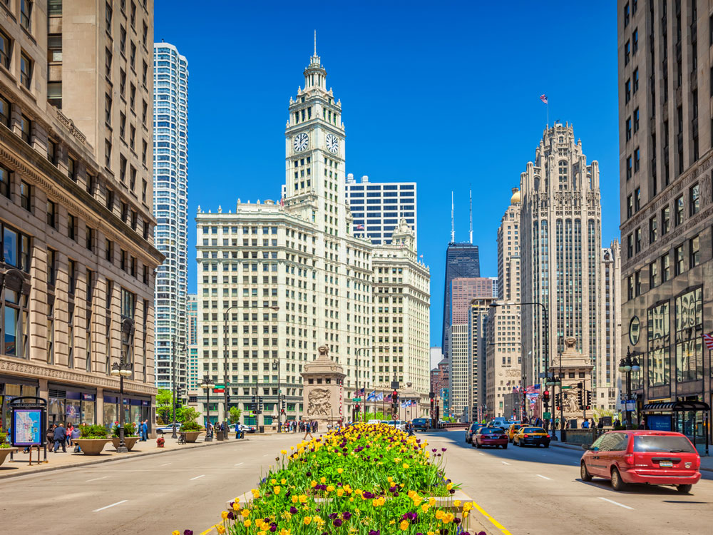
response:
[[[585,417],[585,410],[580,409],[579,399],[582,392],[582,399],[586,403],[587,391],[596,392],[592,385],[592,360],[588,355],[584,355],[575,348],[577,339],[567,337],[564,340],[565,350],[561,351],[556,360],[550,364],[550,373],[558,375],[561,379],[562,392],[562,412],[565,422],[575,423],[577,427],[581,427],[581,423]],[[582,386],[580,387],[579,384]],[[559,393],[560,389],[554,387],[555,392]],[[554,399],[550,396],[550,399]],[[553,402],[554,403],[554,402]],[[595,399],[592,399],[595,404]],[[553,414],[553,418],[559,418],[560,411]],[[593,417],[593,412],[586,414],[588,419]]]

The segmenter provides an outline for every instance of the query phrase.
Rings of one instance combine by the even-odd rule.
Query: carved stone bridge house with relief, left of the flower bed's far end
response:
[[[329,422],[344,423],[344,368],[329,358],[329,347],[319,347],[319,357],[302,367],[304,419],[317,420],[319,429]]]

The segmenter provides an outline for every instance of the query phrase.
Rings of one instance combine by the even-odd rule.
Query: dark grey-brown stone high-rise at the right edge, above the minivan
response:
[[[622,343],[642,404],[710,404],[713,68],[709,4],[617,1]],[[703,442],[704,413],[674,430]],[[689,420],[690,422],[691,420]],[[709,432],[711,427],[708,426]],[[709,435],[709,440],[713,434]]]

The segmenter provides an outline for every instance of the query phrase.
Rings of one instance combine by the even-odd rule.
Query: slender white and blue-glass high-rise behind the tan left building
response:
[[[166,257],[156,272],[156,386],[173,389],[187,377],[188,61],[172,44],[153,45],[153,80],[154,235]]]

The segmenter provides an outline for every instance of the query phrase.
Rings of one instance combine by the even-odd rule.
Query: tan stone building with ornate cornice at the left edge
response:
[[[21,395],[48,400],[49,424],[113,424],[120,363],[125,414],[151,425],[163,260],[150,210],[153,2],[0,11],[0,426]]]

